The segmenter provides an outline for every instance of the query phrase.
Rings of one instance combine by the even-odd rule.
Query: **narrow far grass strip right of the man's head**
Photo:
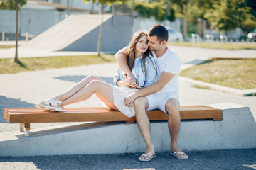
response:
[[[169,42],[168,45],[193,47],[192,42]],[[243,49],[254,49],[256,50],[256,43],[224,43],[224,42],[200,42],[199,46],[202,48],[214,48],[214,49],[225,49],[225,50],[243,50]],[[197,43],[195,43],[197,47]]]

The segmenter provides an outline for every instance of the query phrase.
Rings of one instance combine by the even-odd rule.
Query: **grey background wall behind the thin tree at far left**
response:
[[[38,35],[63,20],[65,14],[65,12],[55,10],[22,8],[18,13],[18,32],[19,34],[28,32],[30,35]],[[14,36],[8,35],[14,35],[16,32],[15,10],[0,10],[0,34],[2,32],[6,33],[6,38],[14,40]]]

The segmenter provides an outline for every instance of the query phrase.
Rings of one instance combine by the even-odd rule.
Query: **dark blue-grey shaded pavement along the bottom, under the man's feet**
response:
[[[156,153],[151,162],[137,161],[139,154],[85,154],[48,157],[0,157],[0,169],[144,169],[144,170],[199,170],[199,169],[256,169],[256,149],[230,149],[187,152],[189,159],[180,160],[169,152]],[[250,156],[249,156],[250,155]]]

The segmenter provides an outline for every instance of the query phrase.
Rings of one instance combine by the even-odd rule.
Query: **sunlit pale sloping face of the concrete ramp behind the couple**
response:
[[[112,15],[104,15],[103,22],[110,18],[112,18]],[[71,15],[36,36],[36,38],[26,43],[26,45],[22,45],[21,48],[49,51],[62,50],[100,26],[100,19],[100,15]],[[97,37],[95,37],[95,39],[97,40]],[[92,40],[92,42],[95,42],[95,40]]]

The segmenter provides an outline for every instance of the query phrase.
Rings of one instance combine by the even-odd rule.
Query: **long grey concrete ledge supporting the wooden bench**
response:
[[[178,139],[181,149],[256,148],[256,123],[250,108],[234,103],[212,106],[223,109],[223,120],[181,122]],[[156,152],[170,150],[166,122],[151,123],[151,135]],[[144,152],[145,148],[136,123],[114,123],[95,128],[76,123],[73,126],[59,126],[57,130],[31,130],[30,137],[25,137],[21,132],[0,135],[0,156]]]

